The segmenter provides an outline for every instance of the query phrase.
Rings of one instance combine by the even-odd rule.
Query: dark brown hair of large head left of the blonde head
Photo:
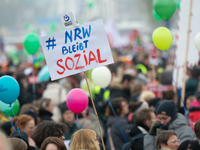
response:
[[[67,125],[45,120],[38,124],[37,128],[33,132],[32,138],[35,141],[36,145],[40,148],[42,142],[47,137],[62,137],[62,135],[66,134],[67,132]]]

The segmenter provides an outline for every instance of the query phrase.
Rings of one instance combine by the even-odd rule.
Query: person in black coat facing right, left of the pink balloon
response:
[[[53,102],[51,99],[42,98],[39,102],[39,117],[40,121],[49,120],[51,121],[51,117],[53,115]]]

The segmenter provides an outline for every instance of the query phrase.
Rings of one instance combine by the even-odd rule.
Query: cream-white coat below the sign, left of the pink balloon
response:
[[[67,91],[63,88],[58,82],[52,82],[47,85],[47,88],[44,90],[42,97],[49,98],[53,101],[54,110],[52,119],[56,122],[59,122],[59,119],[62,117],[58,105],[66,101]]]

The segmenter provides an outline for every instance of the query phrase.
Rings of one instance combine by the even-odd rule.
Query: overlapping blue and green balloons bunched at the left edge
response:
[[[4,115],[12,117],[19,112],[19,92],[19,84],[13,77],[0,78],[0,111]]]

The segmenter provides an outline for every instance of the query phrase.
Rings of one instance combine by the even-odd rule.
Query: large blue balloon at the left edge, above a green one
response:
[[[0,100],[6,104],[12,104],[19,96],[19,84],[11,76],[0,78]]]

